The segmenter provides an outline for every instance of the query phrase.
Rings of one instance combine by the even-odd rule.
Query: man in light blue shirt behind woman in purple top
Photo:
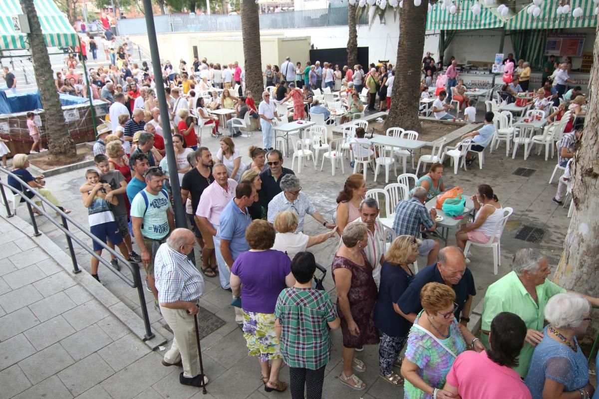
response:
[[[229,272],[227,279],[231,278],[230,271],[235,259],[241,252],[249,251],[250,246],[246,240],[247,226],[252,223],[252,217],[247,207],[256,200],[256,188],[252,183],[243,182],[235,188],[235,198],[231,200],[220,214],[220,225],[217,235],[220,237],[220,254],[226,263]],[[243,325],[243,310],[235,309],[235,322]]]

